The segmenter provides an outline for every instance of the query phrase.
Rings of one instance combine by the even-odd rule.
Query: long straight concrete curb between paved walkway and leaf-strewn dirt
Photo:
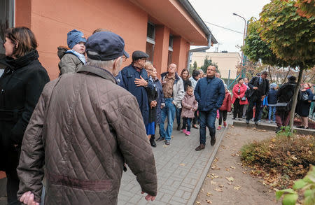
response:
[[[204,183],[204,180],[207,177],[207,174],[209,172],[209,169],[211,167],[212,162],[214,162],[214,157],[216,157],[216,153],[218,152],[218,148],[221,146],[221,141],[223,139],[223,137],[225,136],[225,133],[228,131],[228,127],[226,127],[223,132],[221,133],[221,135],[218,137],[218,139],[216,139],[216,144],[214,146],[214,152],[211,154],[211,157],[208,161],[207,166],[204,168],[204,171],[202,172],[202,175],[200,176],[200,179],[197,183],[197,185],[195,186],[195,190],[193,191],[193,194],[190,197],[190,200],[188,201],[188,205],[194,205],[195,201],[197,199],[197,196],[200,192],[200,189],[202,188],[202,184]],[[209,139],[210,140],[210,139]],[[209,144],[210,145],[210,144]]]

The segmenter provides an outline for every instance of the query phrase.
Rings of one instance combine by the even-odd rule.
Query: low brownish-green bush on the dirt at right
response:
[[[274,188],[287,188],[303,178],[309,164],[315,164],[314,136],[274,136],[254,141],[241,148],[243,164],[253,168],[252,175]]]

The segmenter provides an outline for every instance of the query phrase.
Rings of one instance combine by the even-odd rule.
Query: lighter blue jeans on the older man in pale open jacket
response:
[[[172,98],[165,98],[165,107],[161,110],[160,136],[165,140],[171,140],[173,123],[176,115],[176,106],[172,104]],[[167,129],[164,129],[164,122],[167,118]]]

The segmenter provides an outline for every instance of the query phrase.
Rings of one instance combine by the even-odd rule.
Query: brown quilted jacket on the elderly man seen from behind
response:
[[[48,83],[39,98],[22,143],[18,197],[31,191],[39,202],[45,173],[45,205],[117,204],[124,162],[155,196],[155,160],[137,99],[109,71],[82,66]]]

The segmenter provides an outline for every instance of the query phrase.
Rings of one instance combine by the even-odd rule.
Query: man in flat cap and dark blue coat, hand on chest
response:
[[[118,73],[116,80],[118,85],[128,90],[137,98],[144,125],[148,124],[148,94],[147,89],[153,89],[152,83],[148,80],[148,73],[144,69],[144,64],[149,56],[140,50],[132,53],[132,64],[123,68]]]

